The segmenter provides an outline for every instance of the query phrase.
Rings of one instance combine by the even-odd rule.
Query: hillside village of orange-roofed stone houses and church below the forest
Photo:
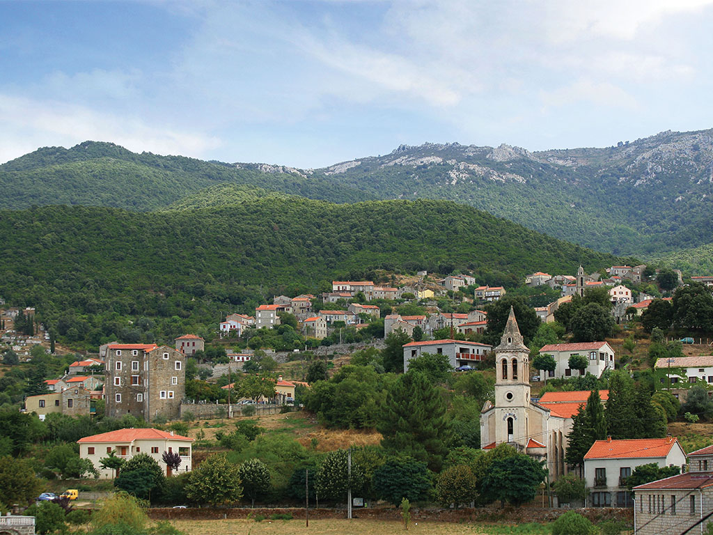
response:
[[[411,453],[438,478],[451,477],[450,471],[471,462],[448,461],[446,447],[473,457],[476,465],[491,452],[495,457],[488,462],[523,456],[523,463],[530,459],[544,470],[550,506],[634,509],[651,525],[639,532],[651,534],[670,524],[666,511],[685,509],[696,516],[707,507],[689,504],[691,489],[713,499],[707,494],[713,486],[701,479],[713,480],[706,457],[710,435],[670,432],[685,429],[679,422],[713,417],[712,340],[671,336],[697,331],[682,331],[680,318],[692,315],[686,307],[700,305],[679,296],[695,294],[713,302],[713,277],[612,265],[590,274],[581,266],[574,275],[533,272],[508,290],[478,285],[464,273],[418,272],[394,275],[391,281],[334,281],[331,291],[319,295],[277,295],[252,315],[229,313],[207,339],[187,333],[170,345],[114,340],[86,355],[56,345],[33,308],[4,307],[0,381],[29,366],[19,414],[46,425],[93,422],[90,427],[100,432],[81,432],[76,439],[76,455],[86,464],[75,473],[96,474],[120,488],[120,463],[115,466],[113,456],[128,467],[146,452],[166,477],[181,472],[188,477],[205,459],[203,447],[213,444],[230,452],[235,440],[245,440],[238,431],[206,441],[205,432],[193,427],[195,419],[206,424],[236,419],[241,429],[241,422],[259,426],[269,414],[297,411],[311,414],[325,429],[376,428],[388,452],[391,431],[374,396],[383,395],[379,389],[386,387],[379,385],[391,373],[400,377],[396,384],[417,377],[426,383],[416,388],[427,384],[426,392],[433,395],[438,388],[448,392],[450,401],[435,410],[444,411],[443,423],[455,435],[446,439],[442,427],[437,433],[443,433],[443,442]],[[578,327],[580,315],[585,330]],[[648,348],[647,354],[639,345]],[[58,373],[52,375],[51,369]],[[340,389],[351,382],[350,388],[363,392],[347,402],[347,391]],[[4,409],[12,410],[8,392],[0,395]],[[464,407],[470,408],[463,412]],[[610,416],[622,411],[633,418],[630,424]],[[257,419],[245,420],[254,414]],[[128,421],[133,429],[120,423]],[[116,423],[106,429],[103,422]],[[269,464],[267,469],[277,477]],[[674,477],[657,483],[657,476]],[[474,481],[486,485],[486,479]],[[533,482],[525,501],[538,489]],[[270,492],[288,499],[279,487]],[[477,492],[445,496],[443,503],[481,500]],[[524,498],[503,494],[501,499]]]

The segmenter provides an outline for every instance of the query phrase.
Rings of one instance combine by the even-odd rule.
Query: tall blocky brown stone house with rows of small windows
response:
[[[106,357],[106,414],[151,422],[178,418],[185,397],[185,355],[155,344],[112,344]]]

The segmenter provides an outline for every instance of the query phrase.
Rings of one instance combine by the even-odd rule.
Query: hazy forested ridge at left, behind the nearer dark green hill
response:
[[[220,183],[260,186],[335,203],[374,198],[297,170],[248,167],[136,154],[113,143],[41,148],[0,165],[0,208],[66,204],[153,210]]]

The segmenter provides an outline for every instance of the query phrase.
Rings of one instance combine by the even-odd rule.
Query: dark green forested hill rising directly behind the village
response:
[[[316,293],[334,278],[380,269],[465,269],[478,282],[512,286],[533,270],[571,273],[583,263],[592,271],[621,261],[443,200],[243,202],[240,190],[235,198],[219,208],[151,213],[0,211],[0,295],[37,307],[67,341],[95,347],[215,330],[225,312],[252,312],[272,295]]]

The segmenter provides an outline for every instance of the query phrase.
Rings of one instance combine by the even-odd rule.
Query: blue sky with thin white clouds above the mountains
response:
[[[0,162],[92,140],[318,168],[713,128],[712,27],[713,0],[0,0]]]

